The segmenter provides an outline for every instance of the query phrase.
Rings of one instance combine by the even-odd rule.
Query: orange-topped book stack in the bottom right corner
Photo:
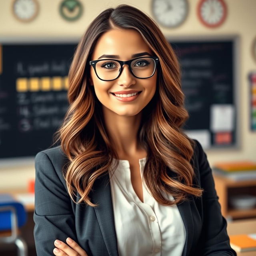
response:
[[[236,252],[254,251],[256,255],[256,233],[255,234],[239,234],[230,235],[230,246]]]

